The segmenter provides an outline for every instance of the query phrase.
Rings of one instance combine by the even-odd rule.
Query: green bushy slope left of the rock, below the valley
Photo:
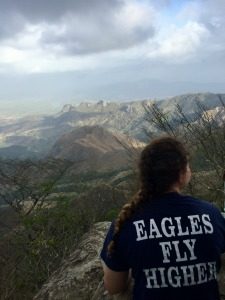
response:
[[[29,214],[17,212],[17,226],[0,241],[1,299],[32,299],[93,223],[116,216],[125,201],[124,192],[102,183],[115,175],[77,176],[74,198],[68,197],[67,189],[63,197],[55,194],[60,182],[51,190],[55,197],[45,199]],[[40,193],[46,189],[49,193],[50,187],[47,180]]]

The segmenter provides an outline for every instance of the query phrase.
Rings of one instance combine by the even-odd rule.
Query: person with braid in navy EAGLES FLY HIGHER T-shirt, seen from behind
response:
[[[181,194],[191,170],[184,145],[154,139],[141,153],[140,189],[112,222],[100,257],[110,294],[134,281],[135,300],[217,300],[225,221],[211,203]]]

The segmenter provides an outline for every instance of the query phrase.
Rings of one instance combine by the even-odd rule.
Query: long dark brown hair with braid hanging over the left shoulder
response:
[[[141,153],[139,160],[139,191],[126,203],[118,214],[114,224],[113,239],[108,245],[108,254],[115,249],[116,238],[126,220],[139,207],[153,198],[169,192],[185,172],[188,164],[188,152],[175,138],[154,139]]]

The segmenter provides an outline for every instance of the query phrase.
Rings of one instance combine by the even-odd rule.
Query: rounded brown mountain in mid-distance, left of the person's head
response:
[[[73,161],[77,172],[124,169],[129,155],[134,155],[143,145],[100,126],[84,126],[60,137],[48,156]]]

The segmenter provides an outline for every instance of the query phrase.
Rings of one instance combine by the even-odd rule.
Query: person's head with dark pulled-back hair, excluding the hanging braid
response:
[[[140,189],[150,197],[180,191],[191,177],[188,152],[175,138],[155,139],[141,153],[139,174]]]

